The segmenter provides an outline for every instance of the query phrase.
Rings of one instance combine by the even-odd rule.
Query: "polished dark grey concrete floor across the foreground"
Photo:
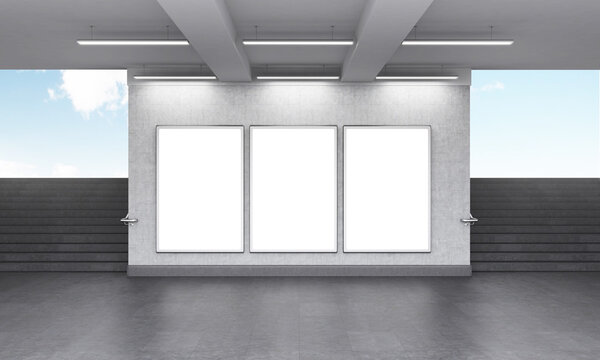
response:
[[[0,359],[598,359],[600,273],[0,273]]]

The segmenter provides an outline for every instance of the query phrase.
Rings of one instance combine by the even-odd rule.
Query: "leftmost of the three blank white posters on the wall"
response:
[[[156,131],[157,251],[243,252],[244,128]]]

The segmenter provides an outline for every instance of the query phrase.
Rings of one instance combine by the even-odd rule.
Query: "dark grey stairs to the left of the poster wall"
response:
[[[127,179],[0,179],[0,271],[124,271]]]

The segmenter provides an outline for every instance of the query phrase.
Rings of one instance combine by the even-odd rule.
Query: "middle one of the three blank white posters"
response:
[[[337,251],[337,127],[250,127],[250,250]]]

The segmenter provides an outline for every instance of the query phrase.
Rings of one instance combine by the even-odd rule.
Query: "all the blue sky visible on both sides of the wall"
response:
[[[0,177],[126,177],[124,70],[0,71]],[[598,71],[473,71],[472,177],[600,177]]]

